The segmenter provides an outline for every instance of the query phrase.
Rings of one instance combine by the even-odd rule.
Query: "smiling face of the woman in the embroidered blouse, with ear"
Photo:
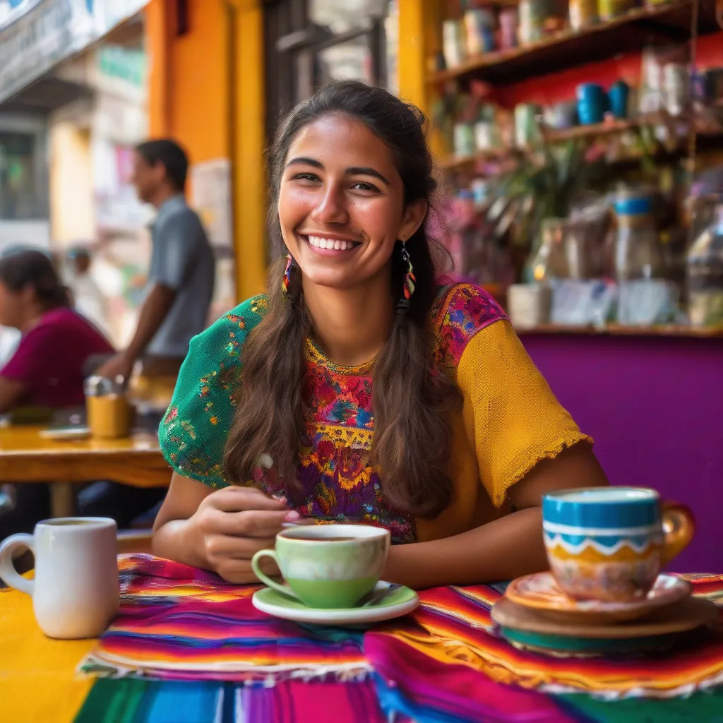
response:
[[[288,149],[281,233],[312,283],[350,288],[385,273],[397,239],[414,234],[426,213],[424,200],[405,208],[390,149],[359,120],[322,116]]]

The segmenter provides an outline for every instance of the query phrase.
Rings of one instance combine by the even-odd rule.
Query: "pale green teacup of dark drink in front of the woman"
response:
[[[270,588],[308,607],[354,607],[379,580],[389,553],[388,530],[368,525],[299,525],[276,535],[275,549],[262,549],[251,566]],[[273,557],[287,585],[262,572]]]

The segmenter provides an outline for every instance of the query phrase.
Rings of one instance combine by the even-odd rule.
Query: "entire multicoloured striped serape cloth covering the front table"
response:
[[[351,717],[340,713],[335,720],[355,721],[355,711],[372,699],[371,712],[363,718],[372,722],[378,716],[380,721],[383,716],[390,721],[410,716],[419,723],[597,722],[608,720],[612,703],[599,707],[590,696],[619,700],[615,706],[624,720],[632,710],[623,706],[625,698],[635,697],[636,705],[643,706],[638,711],[659,711],[656,704],[666,701],[654,698],[680,695],[690,696],[680,706],[696,723],[723,721],[723,712],[717,719],[705,717],[711,701],[723,702],[723,693],[698,693],[723,681],[719,633],[668,656],[555,658],[520,651],[497,636],[489,611],[503,586],[424,591],[413,615],[363,633],[269,617],[252,606],[256,587],[230,585],[186,565],[147,555],[123,557],[119,565],[119,617],[84,668],[100,675],[134,673],[165,680],[140,680],[146,688],[130,679],[99,683],[86,708],[98,696],[126,701],[106,701],[108,715],[116,709],[125,713],[116,719],[99,717],[99,723],[183,723],[185,718],[158,713],[166,700],[164,690],[184,690],[194,701],[202,698],[204,710],[213,707],[208,696],[215,691],[216,717],[208,719],[213,723],[323,720],[301,714],[317,704],[329,711],[335,706],[338,712],[351,706]],[[723,576],[689,577],[696,593],[721,599]],[[119,682],[130,688],[125,697],[116,698],[114,683]],[[218,696],[225,702],[219,703]],[[230,698],[236,701],[233,714]],[[189,703],[187,711],[200,710],[194,705]],[[252,706],[262,705],[273,715],[244,717]],[[657,712],[649,718],[659,719],[667,718]],[[78,722],[91,720],[96,719],[79,717]],[[207,718],[198,720],[206,723]]]

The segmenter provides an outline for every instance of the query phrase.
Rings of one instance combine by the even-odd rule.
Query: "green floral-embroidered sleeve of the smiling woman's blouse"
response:
[[[223,450],[234,420],[241,349],[265,310],[265,297],[255,296],[192,338],[158,430],[163,456],[178,474],[209,487],[228,486]]]

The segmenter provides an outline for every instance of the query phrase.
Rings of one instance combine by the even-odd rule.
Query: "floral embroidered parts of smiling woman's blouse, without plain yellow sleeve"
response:
[[[212,487],[228,484],[223,479],[223,447],[234,416],[240,352],[266,308],[265,297],[257,296],[194,341],[161,427],[168,461],[180,474]],[[430,315],[437,338],[435,363],[453,372],[472,336],[505,318],[480,288],[442,289]],[[200,364],[208,366],[201,369]],[[414,520],[390,508],[372,464],[373,367],[373,359],[359,367],[333,364],[308,340],[298,480],[285,484],[273,460],[265,458],[249,484],[268,495],[287,495],[303,515],[379,525],[390,530],[394,542],[414,542]]]

